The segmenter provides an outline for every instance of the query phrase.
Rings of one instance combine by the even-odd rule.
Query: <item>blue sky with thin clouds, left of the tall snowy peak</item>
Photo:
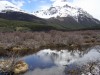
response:
[[[38,9],[50,7],[50,5],[57,0],[7,0],[7,1],[10,1],[18,5],[23,10],[26,10],[28,12],[33,12]],[[67,1],[72,2],[73,0],[67,0]]]

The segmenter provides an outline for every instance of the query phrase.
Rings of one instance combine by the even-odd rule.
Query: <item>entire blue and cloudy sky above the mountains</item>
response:
[[[7,0],[16,4],[27,12],[33,12],[40,9],[49,8],[55,1],[67,1],[76,7],[81,7],[83,10],[90,13],[93,17],[100,20],[100,0]]]

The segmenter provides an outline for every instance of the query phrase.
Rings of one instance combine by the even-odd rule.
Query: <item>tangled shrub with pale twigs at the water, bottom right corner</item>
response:
[[[100,75],[100,62],[89,62],[85,65],[70,64],[65,68],[66,75]]]

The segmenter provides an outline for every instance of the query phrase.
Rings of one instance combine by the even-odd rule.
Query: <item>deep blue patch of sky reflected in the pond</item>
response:
[[[52,66],[55,66],[53,61],[47,57],[41,57],[38,55],[32,55],[28,56],[24,59],[28,64],[30,69],[35,68],[50,68]]]

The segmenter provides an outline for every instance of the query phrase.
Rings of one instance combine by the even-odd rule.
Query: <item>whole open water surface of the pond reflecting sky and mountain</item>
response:
[[[97,61],[100,60],[100,53],[94,48],[81,57],[79,51],[45,49],[22,59],[31,66],[31,69],[34,69],[25,75],[64,75],[65,66],[63,65],[69,65],[69,69],[71,69],[75,68],[76,64],[84,65],[88,62]]]

